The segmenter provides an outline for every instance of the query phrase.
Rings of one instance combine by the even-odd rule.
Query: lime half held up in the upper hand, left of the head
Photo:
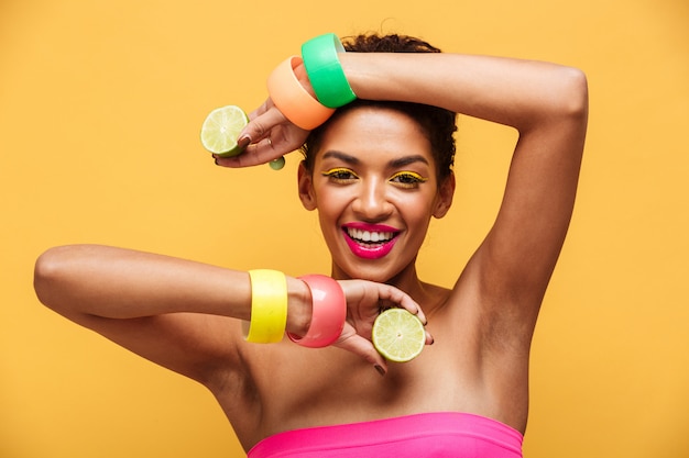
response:
[[[221,157],[237,156],[242,152],[237,137],[249,122],[244,111],[236,105],[217,108],[206,116],[201,126],[201,144]]]

